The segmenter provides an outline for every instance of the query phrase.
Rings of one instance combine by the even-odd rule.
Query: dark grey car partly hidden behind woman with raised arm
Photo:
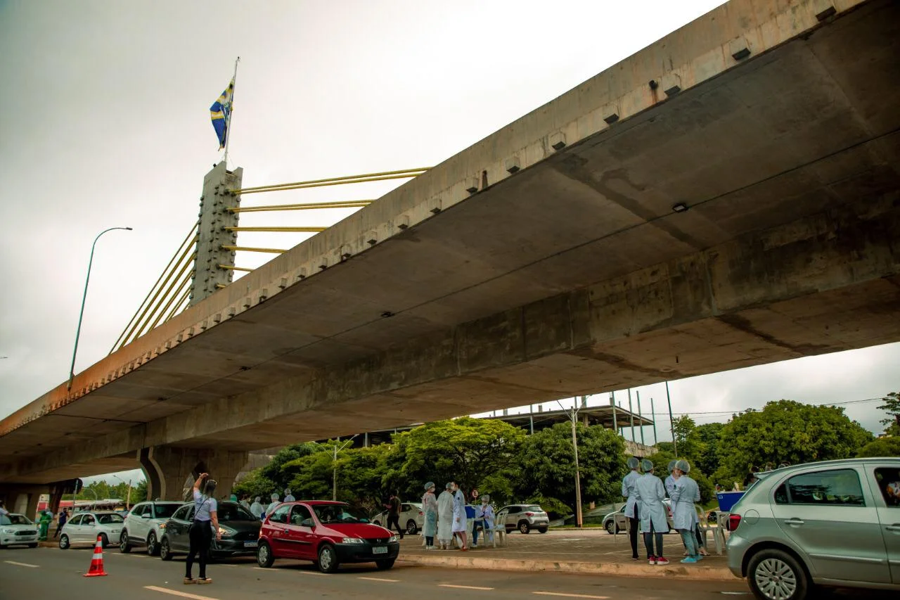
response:
[[[186,553],[191,546],[187,528],[193,522],[193,502],[181,506],[166,521],[162,537],[159,538],[159,558],[171,560],[175,554]],[[210,556],[212,558],[256,554],[259,528],[262,522],[237,502],[222,501],[216,511],[219,517],[221,540],[212,538]]]

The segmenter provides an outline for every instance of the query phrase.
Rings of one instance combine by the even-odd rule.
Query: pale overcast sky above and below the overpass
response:
[[[134,228],[97,245],[76,370],[106,355],[192,227],[203,175],[221,158],[209,106],[238,55],[229,165],[254,186],[437,164],[719,4],[0,0],[0,416],[66,379],[98,232]],[[375,198],[395,185],[266,204]],[[241,224],[347,214],[311,213]],[[893,344],[695,377],[671,385],[673,410],[708,423],[779,398],[874,398],[900,389],[897,364]],[[659,408],[665,393],[642,390],[650,396]],[[876,431],[876,405],[847,410]]]

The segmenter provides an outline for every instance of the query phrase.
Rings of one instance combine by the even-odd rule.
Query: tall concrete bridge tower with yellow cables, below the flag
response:
[[[244,169],[229,171],[220,162],[203,177],[203,195],[200,198],[200,223],[197,228],[197,255],[193,260],[191,305],[212,295],[219,286],[227,286],[234,277],[234,250],[222,246],[234,246],[238,232],[226,227],[238,226],[238,213],[229,209],[240,205],[240,196],[232,190],[240,189]]]

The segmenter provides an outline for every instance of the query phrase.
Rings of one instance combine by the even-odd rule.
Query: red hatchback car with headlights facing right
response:
[[[257,562],[269,568],[275,559],[311,560],[323,573],[342,562],[374,562],[392,568],[400,542],[391,532],[342,502],[288,502],[266,517],[259,530]]]

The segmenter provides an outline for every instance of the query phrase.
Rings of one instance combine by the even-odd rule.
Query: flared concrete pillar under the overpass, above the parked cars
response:
[[[218,482],[215,497],[231,494],[235,478],[247,463],[247,452],[154,446],[139,451],[150,499],[187,500],[193,482],[209,473]]]

